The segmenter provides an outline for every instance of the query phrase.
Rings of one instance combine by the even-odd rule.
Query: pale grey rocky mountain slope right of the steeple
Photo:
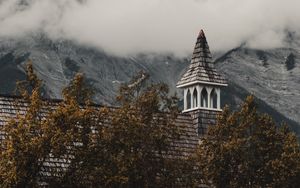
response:
[[[290,119],[300,122],[300,50],[236,48],[216,60],[219,70]]]

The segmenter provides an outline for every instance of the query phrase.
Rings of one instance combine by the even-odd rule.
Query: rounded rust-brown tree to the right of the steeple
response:
[[[286,125],[257,112],[254,97],[240,111],[226,107],[198,151],[197,163],[216,187],[299,187],[300,149]]]

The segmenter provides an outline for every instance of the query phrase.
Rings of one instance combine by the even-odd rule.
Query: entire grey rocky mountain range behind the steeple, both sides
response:
[[[277,122],[285,121],[300,134],[300,48],[256,50],[239,47],[218,55],[216,68],[229,80],[223,103],[235,108],[253,93],[261,111]],[[189,65],[188,58],[172,54],[139,54],[117,57],[72,41],[53,41],[44,35],[0,39],[0,93],[11,94],[17,80],[25,78],[25,63],[31,59],[44,81],[48,97],[61,98],[61,89],[76,72],[85,74],[95,88],[95,100],[115,105],[120,84],[138,71],[150,74],[152,82],[164,82],[175,93],[176,82]],[[182,96],[182,91],[177,91]]]

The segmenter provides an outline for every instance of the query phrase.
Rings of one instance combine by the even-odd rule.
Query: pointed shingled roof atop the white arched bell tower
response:
[[[177,87],[185,87],[196,83],[227,86],[227,81],[214,68],[214,62],[212,62],[211,53],[202,29],[197,38],[191,64],[178,81]]]

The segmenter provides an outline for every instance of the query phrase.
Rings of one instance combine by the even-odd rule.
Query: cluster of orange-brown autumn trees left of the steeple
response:
[[[42,82],[27,65],[18,84],[17,116],[1,131],[1,187],[174,187],[191,185],[191,161],[170,157],[180,138],[177,98],[140,73],[120,88],[118,108],[92,103],[76,74],[61,101],[42,98]],[[24,106],[25,105],[25,108]],[[64,164],[47,167],[52,160]],[[45,177],[47,169],[51,175]],[[46,169],[46,172],[45,172]],[[184,174],[183,174],[184,173]]]

